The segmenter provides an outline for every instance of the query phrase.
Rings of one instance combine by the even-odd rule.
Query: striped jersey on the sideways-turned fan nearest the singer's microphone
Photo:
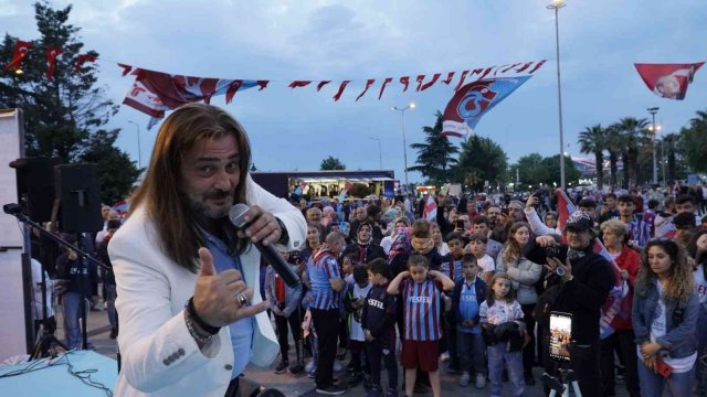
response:
[[[330,251],[323,249],[307,260],[307,272],[312,283],[313,309],[330,310],[339,308],[339,293],[329,280],[341,278],[339,262]]]

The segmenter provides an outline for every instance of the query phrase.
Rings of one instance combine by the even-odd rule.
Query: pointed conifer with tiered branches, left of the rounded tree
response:
[[[412,143],[410,148],[418,151],[418,165],[409,167],[408,171],[419,171],[428,179],[428,183],[441,184],[449,182],[450,169],[456,164],[457,160],[452,155],[458,153],[458,148],[450,143],[447,137],[442,135],[442,112],[437,110],[434,115],[436,121],[434,127],[423,127],[428,135],[425,143]]]

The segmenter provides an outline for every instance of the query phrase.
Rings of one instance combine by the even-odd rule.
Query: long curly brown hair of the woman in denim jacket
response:
[[[687,304],[689,294],[695,289],[693,268],[687,261],[685,248],[668,239],[651,240],[643,249],[641,268],[636,276],[636,293],[642,298],[647,297],[653,289],[653,280],[657,279],[657,276],[648,264],[648,250],[652,247],[661,247],[661,249],[671,257],[671,269],[667,275],[671,281],[665,288],[665,299],[677,301],[680,304]]]

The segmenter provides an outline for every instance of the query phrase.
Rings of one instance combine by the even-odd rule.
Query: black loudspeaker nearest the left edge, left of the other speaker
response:
[[[15,169],[18,181],[18,203],[23,213],[34,222],[52,219],[54,203],[54,165],[59,159],[22,158],[10,163]]]

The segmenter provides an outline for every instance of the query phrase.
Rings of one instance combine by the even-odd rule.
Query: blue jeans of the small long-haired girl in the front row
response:
[[[498,343],[486,347],[488,354],[488,377],[490,378],[490,396],[500,397],[504,388],[504,364],[508,372],[511,395],[523,396],[526,383],[523,379],[523,353],[507,352],[508,343]]]

